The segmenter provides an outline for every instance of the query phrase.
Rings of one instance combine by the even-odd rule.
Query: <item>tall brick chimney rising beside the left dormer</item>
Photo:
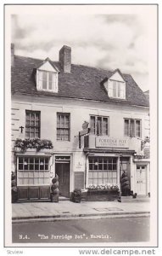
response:
[[[64,70],[64,73],[71,72],[71,49],[69,46],[64,45],[59,50],[59,62]]]

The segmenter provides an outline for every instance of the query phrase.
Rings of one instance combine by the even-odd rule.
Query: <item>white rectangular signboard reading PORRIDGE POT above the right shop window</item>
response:
[[[129,148],[128,139],[114,137],[96,137],[97,148]]]

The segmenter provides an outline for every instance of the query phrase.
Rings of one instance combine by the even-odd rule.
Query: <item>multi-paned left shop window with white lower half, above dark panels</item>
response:
[[[49,157],[18,157],[18,185],[50,183]]]

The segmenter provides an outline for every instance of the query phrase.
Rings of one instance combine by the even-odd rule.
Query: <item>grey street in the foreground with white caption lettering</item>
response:
[[[13,224],[16,243],[149,241],[149,218],[81,219]]]

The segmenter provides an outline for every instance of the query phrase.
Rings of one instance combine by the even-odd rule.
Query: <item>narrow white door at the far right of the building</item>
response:
[[[137,195],[146,195],[146,166],[137,166]]]

